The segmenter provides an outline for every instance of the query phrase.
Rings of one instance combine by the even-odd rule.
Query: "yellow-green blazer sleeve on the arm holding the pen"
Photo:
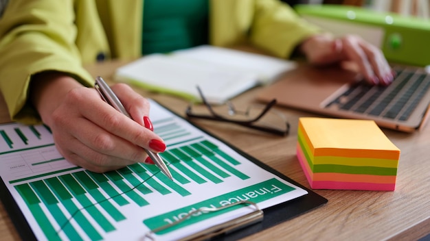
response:
[[[0,88],[12,120],[41,121],[28,101],[36,73],[61,71],[92,85],[75,44],[74,7],[71,0],[9,1],[0,18]]]

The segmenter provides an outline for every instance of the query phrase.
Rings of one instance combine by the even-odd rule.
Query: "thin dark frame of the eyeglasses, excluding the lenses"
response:
[[[286,135],[288,135],[288,133],[290,131],[290,123],[288,123],[288,121],[286,121],[286,120],[285,120],[285,125],[286,125],[285,131],[281,131],[280,129],[275,129],[274,127],[271,128],[271,127],[262,127],[262,126],[254,125],[254,123],[259,121],[265,114],[267,114],[269,112],[269,110],[271,110],[271,108],[276,104],[276,99],[273,99],[272,101],[267,103],[267,105],[264,107],[262,112],[260,114],[258,114],[258,116],[256,116],[256,118],[253,118],[249,121],[237,121],[237,120],[231,120],[229,118],[225,118],[224,116],[220,116],[219,114],[216,114],[216,112],[212,109],[212,105],[206,100],[205,96],[203,95],[201,88],[199,86],[196,86],[196,88],[199,91],[199,94],[200,94],[200,97],[203,101],[203,104],[205,104],[205,106],[207,107],[207,110],[209,110],[210,114],[212,114],[212,115],[192,114],[192,110],[191,110],[192,105],[190,104],[190,105],[188,105],[187,109],[185,110],[185,114],[187,115],[188,118],[201,118],[201,119],[210,120],[210,121],[220,121],[220,122],[225,122],[225,123],[232,123],[232,124],[240,125],[243,127],[248,127],[251,129],[257,129],[259,131],[268,132],[270,134],[275,134],[278,136],[286,136]],[[284,117],[284,116],[282,116],[282,117]]]

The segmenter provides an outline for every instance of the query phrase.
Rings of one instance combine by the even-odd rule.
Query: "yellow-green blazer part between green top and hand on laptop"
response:
[[[289,58],[300,42],[321,32],[280,0],[212,0],[210,7],[212,45],[251,42],[279,58]]]

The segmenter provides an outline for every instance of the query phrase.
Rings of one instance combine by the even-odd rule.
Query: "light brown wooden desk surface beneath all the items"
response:
[[[124,62],[109,62],[88,69],[111,81]],[[186,101],[138,90],[183,115]],[[234,99],[238,105],[253,101],[258,88]],[[280,108],[291,123],[291,134],[278,138],[249,132],[241,127],[209,121],[196,122],[216,136],[269,164],[284,175],[309,187],[295,156],[297,122],[308,112]],[[0,123],[10,121],[0,97]],[[306,214],[266,229],[244,240],[416,240],[430,233],[430,126],[414,134],[383,129],[400,149],[394,192],[315,190],[328,203]],[[20,240],[8,213],[0,203],[0,240]]]

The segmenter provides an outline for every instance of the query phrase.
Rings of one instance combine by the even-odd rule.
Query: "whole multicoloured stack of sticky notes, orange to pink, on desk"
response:
[[[297,157],[311,188],[396,187],[400,150],[374,121],[299,118]]]

